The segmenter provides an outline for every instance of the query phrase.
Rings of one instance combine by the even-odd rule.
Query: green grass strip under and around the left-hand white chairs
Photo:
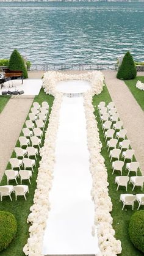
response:
[[[37,101],[39,104],[41,104],[43,101],[48,101],[50,111],[52,107],[54,97],[51,95],[46,95],[46,93],[43,91],[43,89],[40,90],[40,93],[37,97],[34,98],[34,101]],[[29,118],[27,118],[28,120]],[[48,122],[46,124],[46,127],[48,126]],[[21,133],[23,136],[23,133]],[[42,145],[44,143],[44,138],[42,140]],[[20,147],[20,142],[16,142],[16,147]],[[24,147],[23,147],[24,148]],[[15,152],[12,153],[12,158],[15,158]],[[34,158],[33,158],[34,159]],[[15,201],[15,194],[12,193],[12,199],[13,201],[10,202],[9,197],[3,197],[2,202],[0,203],[0,210],[4,211],[10,211],[15,215],[16,221],[18,222],[18,232],[16,233],[16,237],[10,244],[10,246],[1,252],[1,256],[23,256],[23,247],[24,244],[27,243],[27,238],[29,236],[29,225],[26,223],[27,216],[30,213],[29,208],[33,204],[33,198],[34,198],[34,191],[36,188],[36,178],[37,178],[37,171],[39,167],[39,161],[40,156],[37,158],[37,165],[34,168],[34,172],[32,174],[31,178],[31,185],[29,185],[29,181],[24,180],[24,185],[29,185],[29,194],[26,195],[27,201],[24,200],[24,197],[18,197],[17,201]],[[7,169],[11,169],[10,164],[8,163]],[[18,178],[18,184],[20,185],[20,178]],[[1,185],[7,185],[7,180],[5,175],[2,178]],[[11,180],[9,181],[9,185],[16,185],[15,181]],[[41,213],[42,214],[42,213]]]

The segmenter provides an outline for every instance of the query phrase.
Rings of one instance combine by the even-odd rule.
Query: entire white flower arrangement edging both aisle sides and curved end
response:
[[[84,93],[85,117],[87,121],[87,144],[90,152],[90,172],[93,178],[92,199],[95,203],[95,220],[92,227],[92,235],[95,235],[98,227],[98,241],[100,253],[98,256],[115,256],[121,253],[121,242],[116,240],[115,231],[112,228],[112,202],[108,194],[107,170],[104,158],[101,156],[102,144],[99,140],[98,126],[93,114],[92,97],[103,90],[104,76],[100,71],[67,75],[56,71],[48,71],[44,75],[43,88],[46,93],[54,95],[54,103],[49,126],[45,134],[45,143],[40,150],[41,161],[38,168],[37,189],[34,194],[34,205],[30,208],[31,213],[27,223],[31,222],[29,238],[23,248],[25,255],[42,256],[43,235],[46,221],[50,210],[49,190],[52,187],[53,169],[55,161],[55,148],[57,131],[59,128],[59,111],[63,93],[56,90],[56,84],[62,80],[86,80],[91,83],[91,88]],[[42,214],[41,214],[42,213]]]

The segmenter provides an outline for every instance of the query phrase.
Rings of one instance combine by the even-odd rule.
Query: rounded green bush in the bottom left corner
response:
[[[8,211],[0,211],[0,252],[12,242],[17,231],[15,216]]]

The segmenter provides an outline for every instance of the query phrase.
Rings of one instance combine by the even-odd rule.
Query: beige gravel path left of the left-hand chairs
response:
[[[33,98],[12,98],[0,114],[0,180],[33,100]]]

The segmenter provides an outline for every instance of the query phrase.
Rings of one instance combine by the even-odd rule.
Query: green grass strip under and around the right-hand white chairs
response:
[[[117,239],[120,239],[122,243],[123,251],[120,254],[121,256],[140,256],[140,255],[143,255],[143,253],[135,249],[135,247],[132,245],[131,241],[129,240],[129,235],[128,235],[129,219],[131,218],[131,215],[135,211],[137,211],[138,203],[134,204],[134,211],[132,211],[131,206],[126,206],[124,207],[124,210],[121,211],[123,203],[119,202],[119,200],[120,200],[120,194],[126,194],[126,193],[139,194],[139,193],[142,193],[142,191],[140,187],[135,187],[134,191],[132,191],[132,185],[128,185],[127,192],[126,192],[126,189],[121,186],[118,189],[118,191],[116,191],[117,185],[115,185],[115,177],[120,176],[120,172],[115,171],[114,174],[112,175],[112,164],[110,163],[109,153],[107,152],[106,142],[105,142],[104,134],[102,131],[102,125],[101,125],[99,114],[97,111],[97,107],[100,101],[105,101],[106,104],[112,101],[106,86],[104,87],[104,90],[101,94],[95,95],[95,97],[93,97],[93,105],[95,106],[95,116],[98,122],[99,136],[103,144],[101,155],[103,155],[105,159],[105,164],[107,167],[108,182],[109,182],[109,196],[111,197],[112,204],[113,204],[113,210],[111,214],[113,218],[113,229],[115,229],[115,237]],[[129,162],[130,161],[128,160],[126,161],[126,163],[129,163]],[[128,175],[128,171],[125,170],[125,166],[126,164],[124,164],[124,167],[123,167],[123,175]],[[134,175],[135,173],[131,174],[131,176],[134,176]],[[138,175],[141,175],[140,172]],[[142,209],[143,207],[141,206],[140,210]]]

